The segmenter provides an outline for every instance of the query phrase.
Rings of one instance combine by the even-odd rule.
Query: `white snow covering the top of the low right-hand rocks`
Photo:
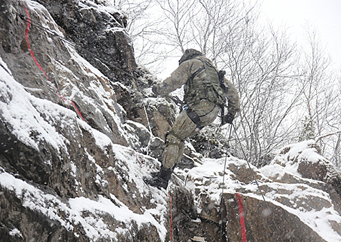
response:
[[[288,156],[302,156],[311,159],[313,162],[321,159],[321,156],[316,153],[314,149],[308,147],[308,144],[310,143],[311,142],[302,142],[292,145],[292,149]],[[287,156],[277,156],[276,159],[277,161],[278,159],[282,159],[280,160],[282,164],[286,164],[286,158]],[[204,160],[203,165],[195,167],[188,172],[186,187],[191,189],[193,194],[195,194],[195,190],[199,191],[199,193],[209,193],[212,201],[219,206],[222,194],[222,171],[224,170],[224,161],[224,158],[218,160]],[[226,163],[227,167],[231,164],[236,167],[246,165],[245,160],[239,160],[233,157],[227,158]],[[264,193],[264,189],[262,190],[266,201],[282,207],[291,214],[295,214],[303,223],[311,227],[311,229],[317,232],[326,241],[341,241],[340,234],[333,230],[333,223],[341,224],[341,216],[334,210],[331,198],[327,192],[323,192],[321,189],[315,189],[303,183],[288,184],[273,182],[271,178],[274,174],[283,175],[286,173],[290,176],[299,178],[297,180],[300,180],[301,182],[306,181],[318,184],[322,183],[321,181],[300,177],[297,169],[295,169],[294,163],[290,163],[284,167],[275,163],[263,167],[262,169],[257,169],[252,165],[251,167],[255,174],[262,176],[262,179],[258,181],[258,183],[260,187],[266,187],[266,193]],[[281,191],[281,193],[279,191]],[[244,196],[262,200],[262,196],[255,183],[245,184],[236,180],[233,173],[228,169],[225,171],[224,192],[231,194],[238,192]],[[286,199],[284,200],[283,198]],[[199,199],[199,196],[197,199]],[[279,201],[283,202],[280,203]],[[286,201],[286,203],[284,203],[284,201]],[[200,203],[200,201],[197,201],[197,203]]]

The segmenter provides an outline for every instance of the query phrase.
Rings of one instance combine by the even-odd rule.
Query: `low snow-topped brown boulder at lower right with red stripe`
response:
[[[223,241],[241,241],[243,229],[248,241],[341,240],[340,196],[333,189],[340,171],[319,155],[313,141],[285,147],[262,169],[228,157],[224,174],[224,162],[204,161],[188,171],[185,184],[195,196],[193,219],[210,221],[217,231],[222,227]],[[302,162],[306,167],[321,165],[333,176],[326,172],[322,179],[315,169],[301,174]],[[208,241],[220,239],[195,232]]]

